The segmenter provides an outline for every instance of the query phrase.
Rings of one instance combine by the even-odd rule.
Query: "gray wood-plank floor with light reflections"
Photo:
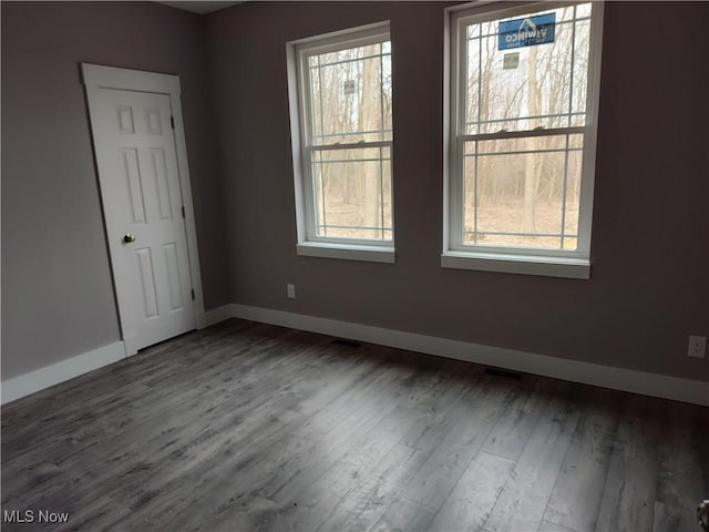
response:
[[[229,320],[2,408],[2,530],[688,531],[709,409]]]

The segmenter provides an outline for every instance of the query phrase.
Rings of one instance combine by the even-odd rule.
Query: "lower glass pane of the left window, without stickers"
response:
[[[316,150],[316,234],[391,241],[391,150]]]

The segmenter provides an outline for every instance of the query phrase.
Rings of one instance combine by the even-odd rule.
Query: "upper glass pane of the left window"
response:
[[[308,72],[312,145],[392,139],[389,41],[311,55]]]

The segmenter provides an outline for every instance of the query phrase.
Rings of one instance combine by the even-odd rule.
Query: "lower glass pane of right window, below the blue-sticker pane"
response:
[[[575,249],[583,135],[465,143],[463,244]]]

